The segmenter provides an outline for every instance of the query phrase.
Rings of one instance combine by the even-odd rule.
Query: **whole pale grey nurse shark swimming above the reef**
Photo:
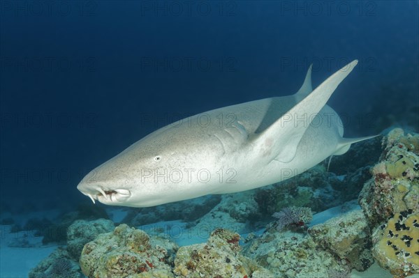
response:
[[[156,130],[87,174],[78,190],[113,206],[148,207],[251,190],[291,178],[369,139],[343,138],[325,105],[353,61],[314,91],[207,111]]]

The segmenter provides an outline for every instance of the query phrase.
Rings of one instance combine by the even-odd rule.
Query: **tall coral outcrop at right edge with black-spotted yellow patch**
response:
[[[374,231],[374,258],[395,277],[406,277],[419,272],[419,134],[395,128],[383,146],[358,200]]]

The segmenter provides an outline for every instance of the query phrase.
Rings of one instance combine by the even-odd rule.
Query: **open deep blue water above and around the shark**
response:
[[[295,93],[310,63],[317,86],[359,59],[329,102],[347,136],[418,128],[417,1],[0,5],[3,209],[87,202],[81,178],[149,132]]]

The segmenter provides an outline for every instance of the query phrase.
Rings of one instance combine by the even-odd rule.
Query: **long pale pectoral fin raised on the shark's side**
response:
[[[267,163],[272,160],[281,162],[293,160],[297,153],[297,146],[314,118],[312,115],[323,108],[330,95],[357,63],[358,60],[352,61],[335,72],[286,114],[272,123],[269,128],[258,134],[252,145],[253,148],[260,150],[260,155],[267,159]],[[307,75],[309,74],[307,73]],[[304,88],[304,84],[302,88]]]

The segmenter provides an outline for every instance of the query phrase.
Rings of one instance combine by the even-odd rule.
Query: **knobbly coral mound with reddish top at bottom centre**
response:
[[[177,277],[273,277],[254,261],[240,255],[240,235],[216,229],[207,243],[180,247],[175,258]]]

